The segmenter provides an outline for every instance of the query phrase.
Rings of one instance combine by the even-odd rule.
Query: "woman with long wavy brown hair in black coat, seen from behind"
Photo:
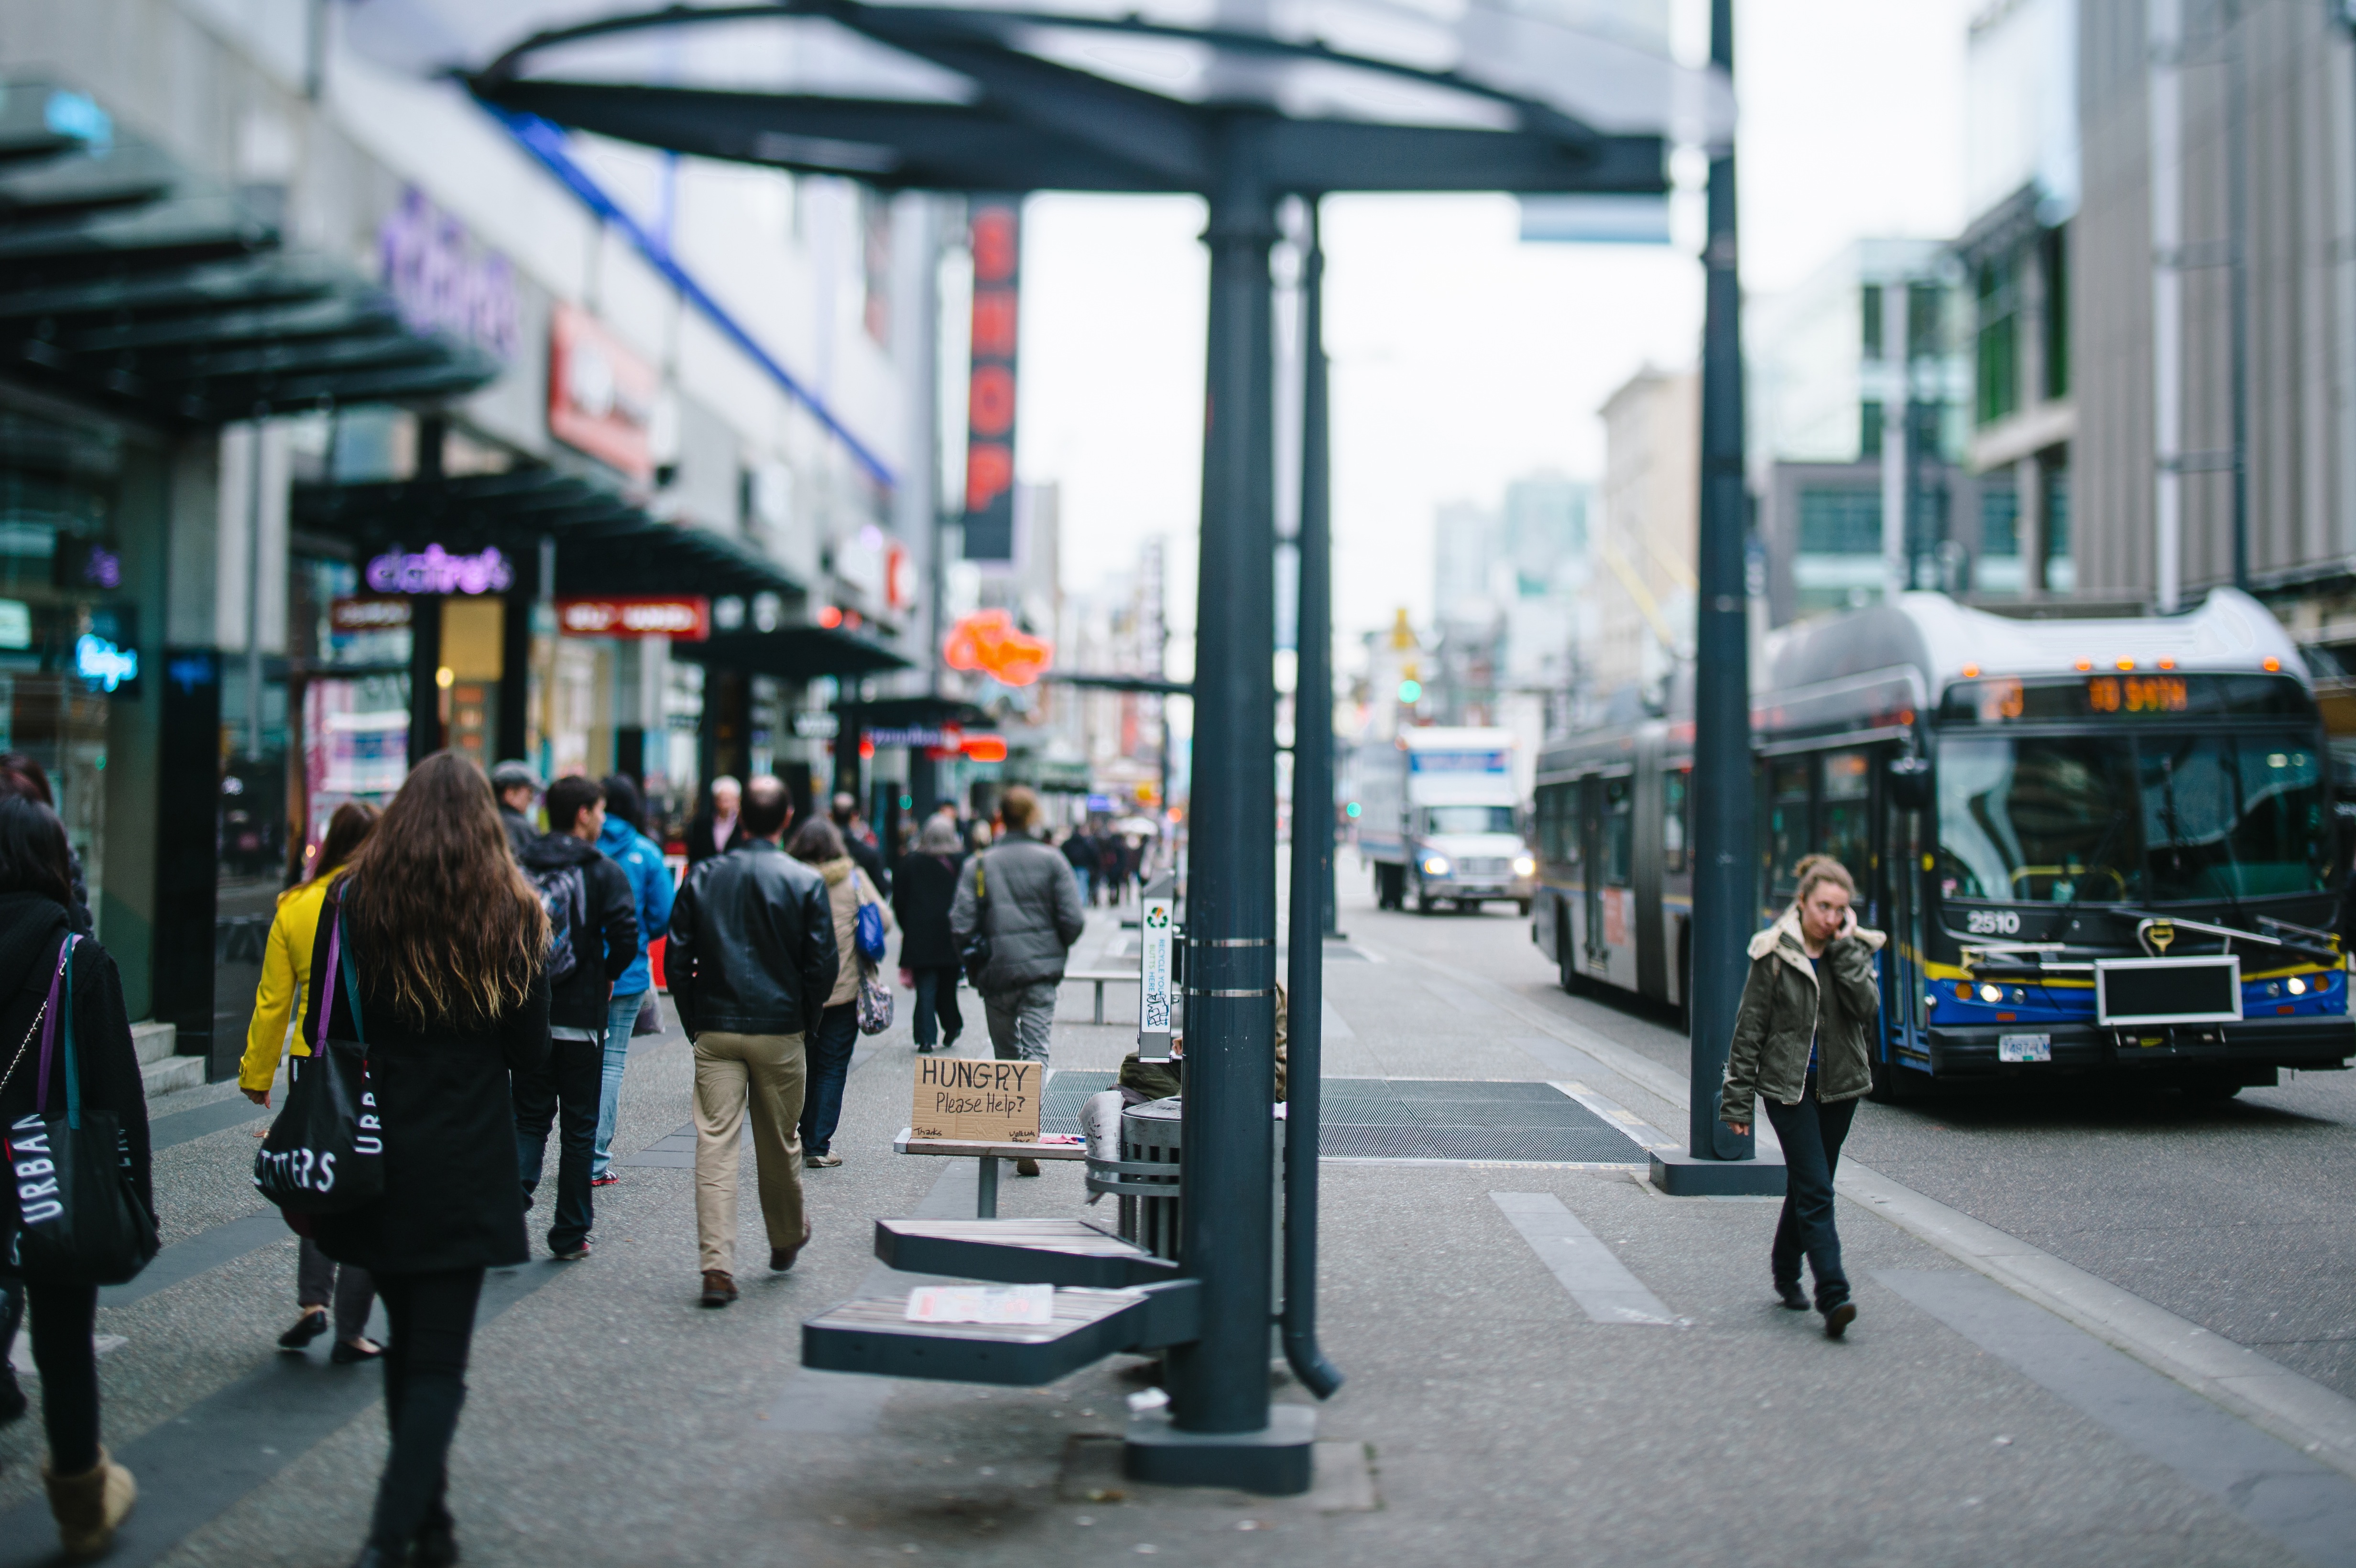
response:
[[[457,1561],[443,1490],[474,1307],[483,1269],[530,1257],[507,1081],[549,1059],[547,932],[490,779],[457,751],[410,770],[320,911],[304,1034],[325,1005],[332,1038],[368,1045],[384,1121],[384,1196],[316,1222],[391,1318],[393,1450],[360,1568]]]

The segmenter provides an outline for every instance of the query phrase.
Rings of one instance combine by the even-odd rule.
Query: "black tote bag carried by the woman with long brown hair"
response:
[[[342,902],[330,916],[327,972],[316,982],[318,1034],[309,1057],[290,1057],[287,1107],[254,1154],[254,1187],[287,1215],[342,1215],[384,1196],[384,1123],[368,1076],[360,991],[344,963]],[[360,1036],[356,1041],[327,1034],[337,977],[351,1008],[351,1031]]]

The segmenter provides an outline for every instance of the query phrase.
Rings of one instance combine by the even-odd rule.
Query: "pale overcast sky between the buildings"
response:
[[[1699,7],[1701,0],[1673,0]],[[1953,235],[1963,42],[1977,0],[1736,0],[1743,285],[1795,285],[1859,235]],[[1692,14],[1682,33],[1699,28]],[[1595,410],[1692,365],[1701,268],[1677,247],[1522,245],[1505,198],[1331,198],[1336,631],[1430,610],[1432,511],[1538,469],[1597,478]],[[1041,195],[1023,240],[1020,452],[1063,487],[1063,577],[1086,591],[1169,534],[1194,622],[1202,205]]]

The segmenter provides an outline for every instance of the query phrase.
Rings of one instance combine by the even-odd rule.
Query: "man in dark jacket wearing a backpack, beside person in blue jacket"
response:
[[[638,961],[638,899],[622,866],[598,855],[605,791],[568,775],[544,798],[549,831],[523,850],[523,876],[549,916],[549,1064],[516,1074],[516,1172],[525,1205],[540,1189],[549,1125],[558,1123],[556,1215],[549,1253],[589,1257],[596,1109],[605,1078],[613,984]]]

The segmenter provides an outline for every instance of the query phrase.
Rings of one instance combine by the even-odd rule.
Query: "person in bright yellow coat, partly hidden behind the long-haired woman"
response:
[[[278,916],[271,921],[271,942],[262,956],[262,984],[254,986],[254,1022],[245,1031],[245,1059],[238,1064],[238,1088],[259,1107],[271,1102],[271,1083],[278,1081],[278,1052],[285,1050],[287,1026],[302,1017],[304,994],[311,989],[311,942],[318,937],[318,911],[327,902],[332,883],[351,852],[360,848],[368,831],[377,826],[377,808],[346,800],[327,819],[327,838],[318,845],[318,864],[311,876],[278,895]],[[294,1036],[294,1055],[306,1057],[311,1048]],[[302,1262],[294,1267],[294,1300],[302,1316],[294,1328],[278,1335],[278,1349],[304,1351],[311,1340],[327,1330],[327,1302],[335,1302],[335,1351],[337,1363],[370,1361],[384,1354],[368,1337],[368,1309],[377,1302],[377,1285],[368,1269],[344,1264],[337,1276],[335,1260],[318,1250],[309,1236],[302,1241]]]

